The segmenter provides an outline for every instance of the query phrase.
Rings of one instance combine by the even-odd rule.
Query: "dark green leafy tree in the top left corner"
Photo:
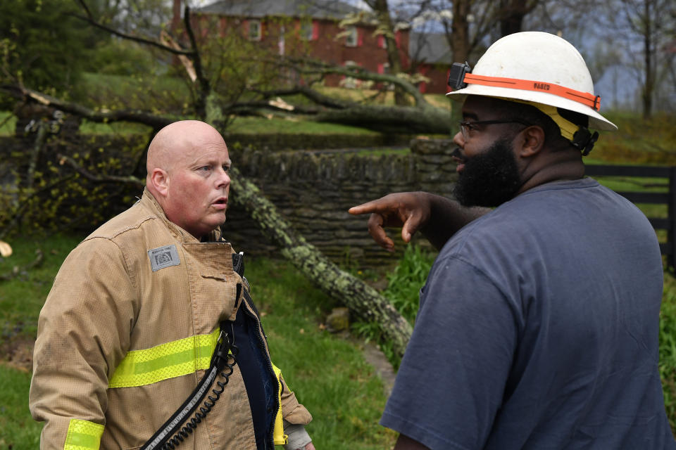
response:
[[[60,94],[75,86],[100,34],[74,11],[70,0],[0,2],[0,79]]]

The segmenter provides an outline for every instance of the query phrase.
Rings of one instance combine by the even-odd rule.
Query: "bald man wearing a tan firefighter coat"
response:
[[[35,343],[29,406],[45,423],[41,449],[161,449],[170,439],[314,449],[311,415],[270,361],[242,256],[220,236],[230,164],[210,125],[168,125],[149,146],[141,200],[63,262]],[[220,398],[207,400],[206,418],[181,416],[195,427],[180,435],[168,423],[203,378]]]

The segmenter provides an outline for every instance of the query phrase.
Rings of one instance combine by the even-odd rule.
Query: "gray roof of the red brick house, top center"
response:
[[[341,20],[361,10],[339,0],[219,0],[196,13],[263,18],[270,15]]]

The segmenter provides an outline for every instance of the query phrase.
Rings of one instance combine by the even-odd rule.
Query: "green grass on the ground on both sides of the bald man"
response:
[[[42,266],[0,281],[2,339],[32,338],[46,293],[63,259],[82,236],[35,236],[10,240],[15,250],[0,259],[0,275],[30,262],[41,248]],[[299,401],[313,413],[308,425],[318,449],[392,448],[396,435],[377,425],[384,408],[382,382],[360,349],[319,326],[332,300],[314,288],[289,262],[247,259],[246,276],[263,316],[270,353]],[[15,323],[23,323],[14,330]],[[6,330],[6,331],[5,331]],[[40,425],[27,411],[30,373],[0,358],[0,448],[37,448]],[[281,447],[280,447],[281,449]]]

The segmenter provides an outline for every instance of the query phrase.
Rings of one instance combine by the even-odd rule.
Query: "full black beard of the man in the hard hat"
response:
[[[463,206],[496,207],[514,198],[520,186],[511,143],[503,139],[465,161],[453,195]]]

